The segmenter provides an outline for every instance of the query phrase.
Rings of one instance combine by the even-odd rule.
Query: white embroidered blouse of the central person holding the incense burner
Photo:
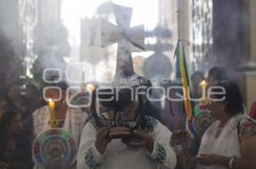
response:
[[[172,169],[177,159],[170,147],[172,132],[159,121],[147,117],[151,121],[152,130],[148,132],[154,138],[154,150],[151,155],[145,149],[131,149],[121,142],[113,139],[104,155],[96,147],[97,129],[93,122],[84,127],[78,153],[78,169],[156,169],[161,167]],[[150,125],[149,125],[150,126]],[[145,131],[145,130],[144,130]]]

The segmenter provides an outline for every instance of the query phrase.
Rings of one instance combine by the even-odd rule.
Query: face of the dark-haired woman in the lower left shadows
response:
[[[11,135],[19,135],[22,132],[22,121],[21,115],[17,114],[13,117],[12,121],[9,123],[9,134]]]

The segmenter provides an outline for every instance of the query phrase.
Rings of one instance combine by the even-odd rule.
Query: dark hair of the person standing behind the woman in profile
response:
[[[208,71],[208,76],[212,76],[215,82],[222,82],[229,79],[227,71],[221,66],[214,66]]]

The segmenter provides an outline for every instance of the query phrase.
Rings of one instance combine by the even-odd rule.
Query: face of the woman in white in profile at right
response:
[[[212,96],[212,99],[217,98]],[[212,99],[208,101],[207,108],[210,110],[212,118],[219,120],[224,114],[224,101],[216,101]]]

